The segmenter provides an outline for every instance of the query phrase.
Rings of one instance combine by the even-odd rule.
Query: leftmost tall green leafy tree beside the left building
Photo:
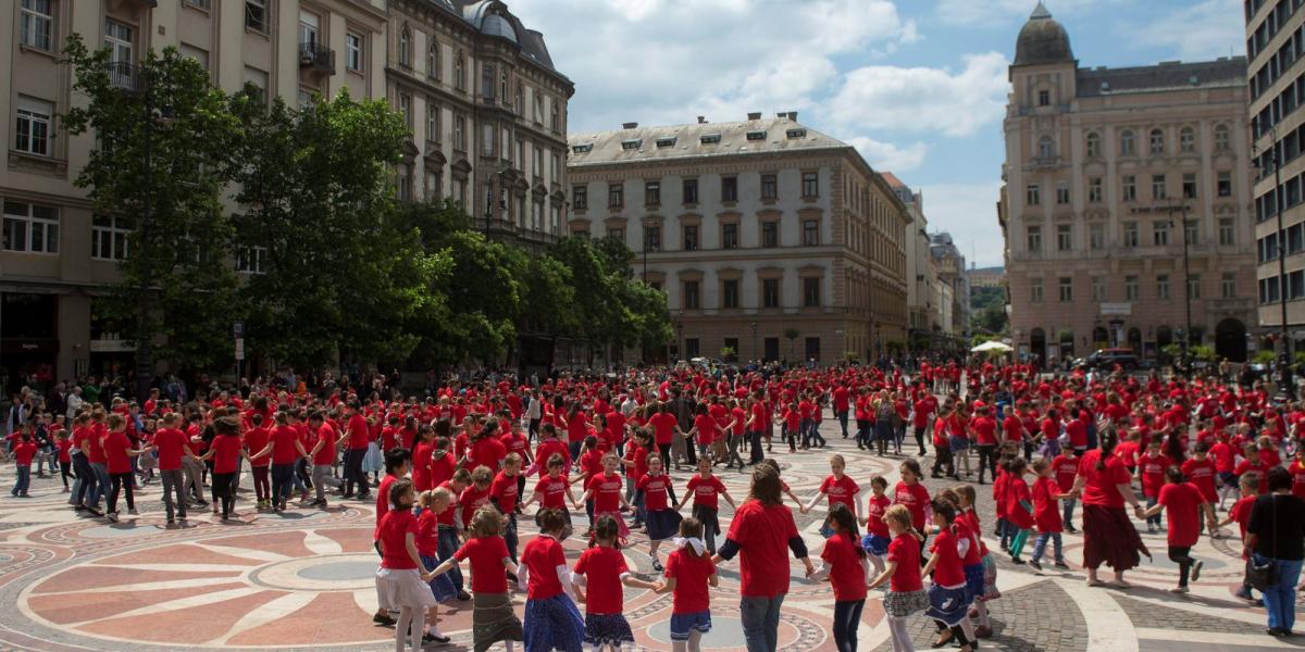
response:
[[[86,98],[61,116],[64,128],[95,136],[74,183],[98,219],[134,226],[106,312],[129,338],[157,342],[174,369],[224,366],[240,318],[234,230],[222,206],[239,123],[226,95],[171,47],[147,51],[140,65],[119,64],[73,34],[64,61]],[[141,363],[151,374],[153,361]]]

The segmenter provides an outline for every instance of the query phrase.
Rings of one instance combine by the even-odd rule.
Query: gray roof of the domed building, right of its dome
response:
[[[1135,68],[1079,68],[1078,96],[1117,95],[1195,87],[1246,85],[1246,57],[1184,64],[1167,61]]]

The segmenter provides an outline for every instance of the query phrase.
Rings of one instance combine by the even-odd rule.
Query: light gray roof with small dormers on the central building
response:
[[[753,134],[753,138],[761,140],[748,140],[749,133]],[[763,138],[762,133],[765,133]],[[703,137],[709,140],[719,137],[719,142],[703,143]],[[671,138],[673,138],[673,145],[669,143]],[[763,117],[740,123],[637,126],[612,132],[573,133],[566,140],[570,145],[568,166],[851,147],[788,117]],[[658,146],[659,140],[664,146]],[[585,146],[590,149],[577,151],[577,147]]]

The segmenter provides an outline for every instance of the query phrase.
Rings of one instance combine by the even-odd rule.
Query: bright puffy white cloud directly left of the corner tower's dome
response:
[[[964,57],[964,69],[872,65],[844,76],[825,107],[844,129],[941,132],[968,136],[1001,120],[1006,106],[1005,55]]]

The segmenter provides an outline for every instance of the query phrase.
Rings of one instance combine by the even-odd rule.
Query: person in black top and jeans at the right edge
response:
[[[1292,475],[1268,469],[1268,493],[1255,498],[1246,524],[1246,549],[1255,563],[1272,563],[1274,584],[1263,591],[1268,635],[1289,636],[1296,623],[1296,584],[1305,559],[1305,501],[1292,494]]]

